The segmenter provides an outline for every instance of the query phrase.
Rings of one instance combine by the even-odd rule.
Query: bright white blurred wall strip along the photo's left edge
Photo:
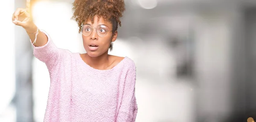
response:
[[[0,122],[14,122],[15,108],[9,106],[15,95],[15,25],[12,23],[14,0],[0,4]]]

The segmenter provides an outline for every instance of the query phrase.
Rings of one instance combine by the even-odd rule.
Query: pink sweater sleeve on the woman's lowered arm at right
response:
[[[135,81],[136,67],[133,63],[125,78],[122,102],[116,117],[116,122],[135,122],[138,111],[135,97]]]

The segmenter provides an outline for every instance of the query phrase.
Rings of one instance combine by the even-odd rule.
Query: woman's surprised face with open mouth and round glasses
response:
[[[98,30],[96,28],[98,28]],[[106,31],[105,28],[108,31]],[[87,21],[84,22],[84,27],[82,28],[81,33],[83,33],[83,31],[85,33],[82,34],[84,49],[91,57],[108,54],[111,42],[116,41],[117,37],[117,31],[112,31],[111,22],[105,22],[103,17],[100,17],[98,20],[98,16],[94,17],[93,23],[90,19],[87,19]],[[98,31],[98,34],[96,31]]]

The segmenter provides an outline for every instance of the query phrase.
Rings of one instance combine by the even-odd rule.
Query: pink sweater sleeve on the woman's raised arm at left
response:
[[[40,61],[44,62],[48,68],[51,68],[57,64],[57,61],[59,61],[61,51],[52,42],[52,39],[48,33],[46,33],[45,31],[41,32],[43,32],[47,36],[47,44],[42,47],[36,47],[32,44],[32,41],[30,40],[31,44],[34,47],[33,54],[35,55],[35,58],[38,58]]]

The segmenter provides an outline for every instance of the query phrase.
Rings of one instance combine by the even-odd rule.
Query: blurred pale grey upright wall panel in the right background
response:
[[[198,14],[195,24],[198,117],[208,122],[222,122],[232,110],[232,14],[212,11],[202,13]]]

